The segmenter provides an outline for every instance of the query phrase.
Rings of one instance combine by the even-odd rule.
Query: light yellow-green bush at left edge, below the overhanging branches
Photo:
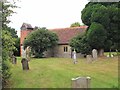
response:
[[[11,34],[6,30],[2,31],[2,84],[3,87],[8,84],[7,80],[10,77],[10,69],[9,69],[9,61],[11,51],[15,49],[14,47],[14,38],[12,38]]]

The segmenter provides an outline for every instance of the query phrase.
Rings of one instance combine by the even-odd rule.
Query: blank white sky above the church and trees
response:
[[[20,27],[29,23],[33,27],[47,29],[66,28],[74,22],[82,24],[81,11],[88,0],[20,0],[16,3],[20,8],[9,19],[9,26],[17,30],[20,37]]]

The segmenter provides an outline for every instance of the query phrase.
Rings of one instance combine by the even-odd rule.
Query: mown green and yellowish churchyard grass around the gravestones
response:
[[[10,64],[12,76],[10,88],[71,88],[71,79],[77,76],[91,77],[91,88],[118,87],[118,58],[99,58],[87,63],[85,58],[73,64],[67,58],[32,58],[30,70],[23,71],[21,58]]]

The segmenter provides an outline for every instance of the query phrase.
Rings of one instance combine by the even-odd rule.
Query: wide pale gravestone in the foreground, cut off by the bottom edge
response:
[[[90,77],[72,78],[72,88],[90,88]]]

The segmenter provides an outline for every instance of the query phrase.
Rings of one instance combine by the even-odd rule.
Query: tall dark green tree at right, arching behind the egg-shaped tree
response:
[[[118,26],[120,24],[120,15],[118,12],[120,8],[119,3],[109,2],[89,2],[85,8],[82,10],[82,21],[84,24],[88,25],[88,30],[92,23],[96,22],[104,27],[104,33],[106,33],[107,40],[104,42],[107,46],[104,47],[105,50],[119,49],[120,30]],[[99,40],[99,38],[98,38]],[[98,44],[99,45],[99,44]],[[99,48],[100,49],[100,48]]]

